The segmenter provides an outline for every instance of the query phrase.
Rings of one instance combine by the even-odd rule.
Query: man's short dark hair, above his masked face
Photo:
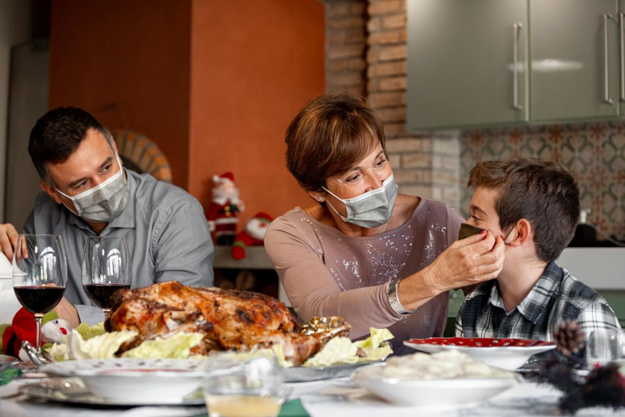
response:
[[[113,146],[113,138],[93,114],[76,107],[58,107],[41,116],[28,143],[28,153],[39,178],[54,185],[48,167],[61,164],[78,149],[89,129],[96,129]]]

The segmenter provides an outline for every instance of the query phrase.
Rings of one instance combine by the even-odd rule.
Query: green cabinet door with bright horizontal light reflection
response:
[[[531,121],[617,118],[616,0],[531,0]]]

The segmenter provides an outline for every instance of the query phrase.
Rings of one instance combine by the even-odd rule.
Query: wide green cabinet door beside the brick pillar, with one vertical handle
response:
[[[527,0],[407,0],[407,129],[529,119],[527,6]]]

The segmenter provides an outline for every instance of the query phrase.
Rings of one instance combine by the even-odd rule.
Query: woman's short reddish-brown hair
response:
[[[345,173],[377,144],[386,152],[384,122],[365,98],[323,94],[306,104],[285,134],[286,168],[307,191]]]

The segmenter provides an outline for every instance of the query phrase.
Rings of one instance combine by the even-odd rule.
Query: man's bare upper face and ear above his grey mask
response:
[[[56,188],[68,196],[76,196],[118,173],[121,167],[115,156],[116,151],[102,133],[89,129],[86,138],[67,161],[49,166],[49,174]],[[54,201],[65,203],[76,213],[70,199],[61,196],[48,184],[42,183],[41,186]]]

